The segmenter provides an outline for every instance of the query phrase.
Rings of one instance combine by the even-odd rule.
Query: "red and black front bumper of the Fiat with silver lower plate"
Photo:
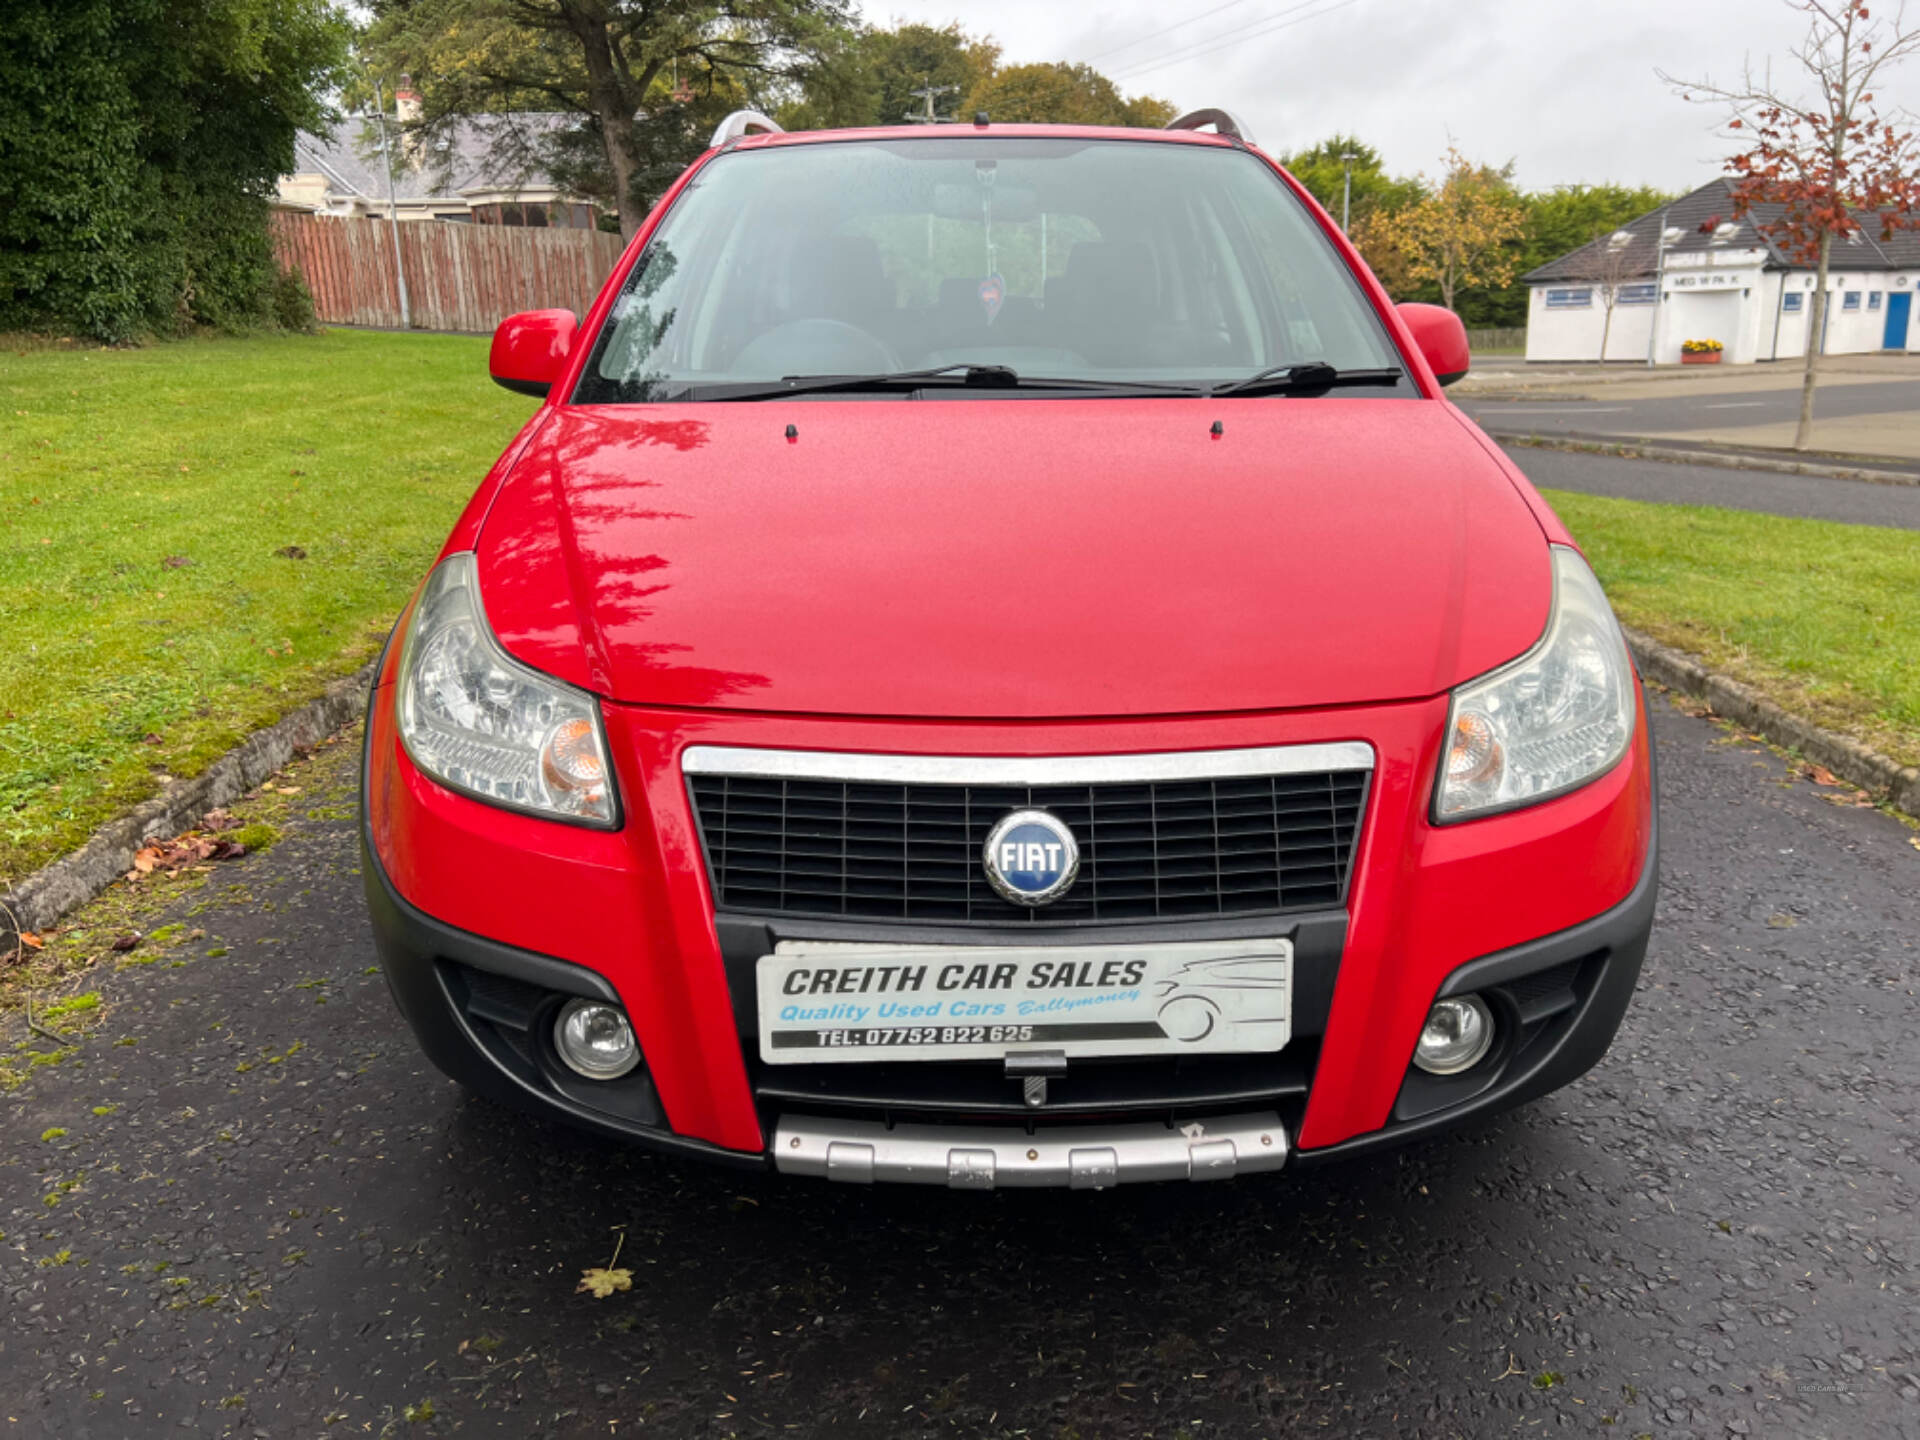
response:
[[[1044,747],[1031,732],[979,726],[607,708],[626,789],[628,826],[618,833],[493,810],[434,785],[407,762],[392,730],[390,689],[376,687],[365,883],[394,996],[440,1069],[484,1094],[657,1148],[835,1179],[948,1185],[981,1185],[983,1169],[995,1185],[1119,1183],[1183,1169],[1194,1179],[1217,1175],[1223,1152],[1196,1156],[1183,1133],[1196,1123],[1202,1135],[1271,1137],[1258,1152],[1235,1146],[1236,1173],[1288,1158],[1348,1156],[1519,1104],[1584,1073],[1619,1027],[1651,929],[1657,860],[1645,724],[1630,758],[1582,791],[1432,828],[1425,804],[1444,701],[1325,716],[1071,724],[1056,728]],[[914,1092],[876,1116],[831,1091],[833,1075],[822,1071],[841,1068],[755,1060],[741,960],[751,968],[780,927],[716,920],[680,776],[685,747],[1117,753],[1342,737],[1365,737],[1379,756],[1359,860],[1346,910],[1260,922],[1265,933],[1275,924],[1292,931],[1300,952],[1319,962],[1302,973],[1313,987],[1313,1021],[1258,1085],[1215,1069],[1160,1094],[1152,1075],[1114,1068],[1106,1089],[1069,1094],[1039,1119],[1012,1106],[935,1104]],[[1461,991],[1496,1004],[1505,1021],[1501,1046],[1463,1077],[1409,1071],[1434,996]],[[641,1071],[593,1085],[559,1066],[545,1027],[572,995],[626,1006],[647,1058]],[[918,1079],[910,1066],[895,1069]],[[929,1114],[929,1106],[948,1114]],[[881,1117],[891,1127],[887,1144],[872,1133]],[[935,1135],[914,1129],[927,1119],[941,1121]],[[847,1164],[828,1164],[833,1146],[843,1146]],[[1110,1167],[1098,1154],[1108,1150]],[[1108,1169],[1112,1181],[1104,1181]]]

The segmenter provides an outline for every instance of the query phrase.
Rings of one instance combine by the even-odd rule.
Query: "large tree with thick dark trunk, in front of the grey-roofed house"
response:
[[[699,119],[778,106],[852,29],[851,0],[372,0],[372,12],[367,54],[420,86],[420,138],[474,115],[572,115],[559,132],[499,127],[499,146],[570,165],[570,180],[599,186],[584,194],[611,198],[624,234],[699,154]]]

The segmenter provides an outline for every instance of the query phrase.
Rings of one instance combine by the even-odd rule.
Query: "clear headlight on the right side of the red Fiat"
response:
[[[1548,634],[1513,664],[1453,691],[1436,820],[1561,795],[1607,772],[1634,739],[1634,662],[1574,551],[1553,547]]]

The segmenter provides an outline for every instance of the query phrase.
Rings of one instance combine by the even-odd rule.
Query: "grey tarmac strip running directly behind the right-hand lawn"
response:
[[[1540,445],[1507,445],[1515,465],[1544,490],[1580,490],[1588,495],[1718,505],[1845,524],[1880,524],[1920,530],[1920,486],[1887,486],[1870,480],[1828,480],[1809,474],[1724,470],[1713,465],[1624,461]]]

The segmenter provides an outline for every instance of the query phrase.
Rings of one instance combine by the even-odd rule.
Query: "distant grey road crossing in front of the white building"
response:
[[[1799,390],[1738,390],[1628,399],[1599,392],[1596,399],[1551,396],[1542,399],[1461,397],[1461,409],[1488,430],[1524,434],[1659,436],[1791,422],[1799,417]],[[1903,415],[1920,409],[1920,380],[1841,384],[1828,380],[1814,394],[1814,419],[1837,420],[1862,415]]]

